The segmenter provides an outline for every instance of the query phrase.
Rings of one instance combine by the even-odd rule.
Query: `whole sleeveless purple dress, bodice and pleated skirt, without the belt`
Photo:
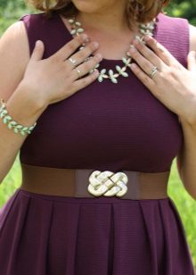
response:
[[[50,19],[43,12],[20,20],[30,54],[37,39],[45,43],[44,58],[72,39],[57,12]],[[188,21],[159,13],[154,37],[187,66]],[[115,69],[117,64],[122,61],[103,59],[100,69]],[[94,81],[50,105],[21,147],[20,162],[115,172],[170,171],[183,144],[178,118],[132,71],[128,74],[118,84]],[[0,213],[0,274],[192,275],[193,265],[184,225],[170,197],[47,196],[18,188]]]

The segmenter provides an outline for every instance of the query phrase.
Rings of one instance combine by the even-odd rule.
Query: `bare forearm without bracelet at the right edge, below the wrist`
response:
[[[196,199],[196,123],[181,122],[184,146],[178,155],[178,170],[185,189]]]

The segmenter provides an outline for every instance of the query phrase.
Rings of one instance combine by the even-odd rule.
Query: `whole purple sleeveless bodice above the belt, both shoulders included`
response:
[[[30,54],[37,39],[45,44],[44,58],[72,39],[58,13],[48,20],[45,13],[27,15],[22,20],[28,28]],[[179,28],[184,29],[181,36]],[[186,66],[185,20],[159,13],[154,37]],[[117,64],[123,63],[103,59],[99,69],[115,69]],[[73,96],[49,105],[21,147],[20,161],[71,169],[168,171],[182,146],[181,125],[176,114],[161,104],[131,70],[128,74],[128,78],[119,78],[118,84],[109,79],[102,83],[96,80]]]

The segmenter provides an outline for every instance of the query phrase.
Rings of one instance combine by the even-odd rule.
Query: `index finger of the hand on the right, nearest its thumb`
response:
[[[159,56],[159,58],[166,63],[168,66],[171,66],[177,63],[176,58],[169,53],[165,46],[162,46],[157,40],[155,40],[151,36],[144,36],[144,41],[146,42],[147,46],[150,46],[151,49],[154,51],[155,54]]]

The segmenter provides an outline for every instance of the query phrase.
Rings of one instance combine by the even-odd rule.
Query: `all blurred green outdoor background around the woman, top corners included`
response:
[[[183,17],[196,26],[196,0],[172,0],[169,4],[167,14],[175,17]],[[29,12],[35,12],[27,7],[21,0],[0,0],[0,37],[4,30],[20,16]],[[19,157],[12,166],[12,170],[0,186],[0,207],[12,196],[14,190],[20,186],[20,164]],[[196,184],[196,180],[195,180]],[[192,258],[196,267],[196,202],[184,190],[183,184],[178,177],[176,160],[172,166],[169,179],[169,196],[174,200],[180,216],[184,222],[184,228],[191,249]]]

